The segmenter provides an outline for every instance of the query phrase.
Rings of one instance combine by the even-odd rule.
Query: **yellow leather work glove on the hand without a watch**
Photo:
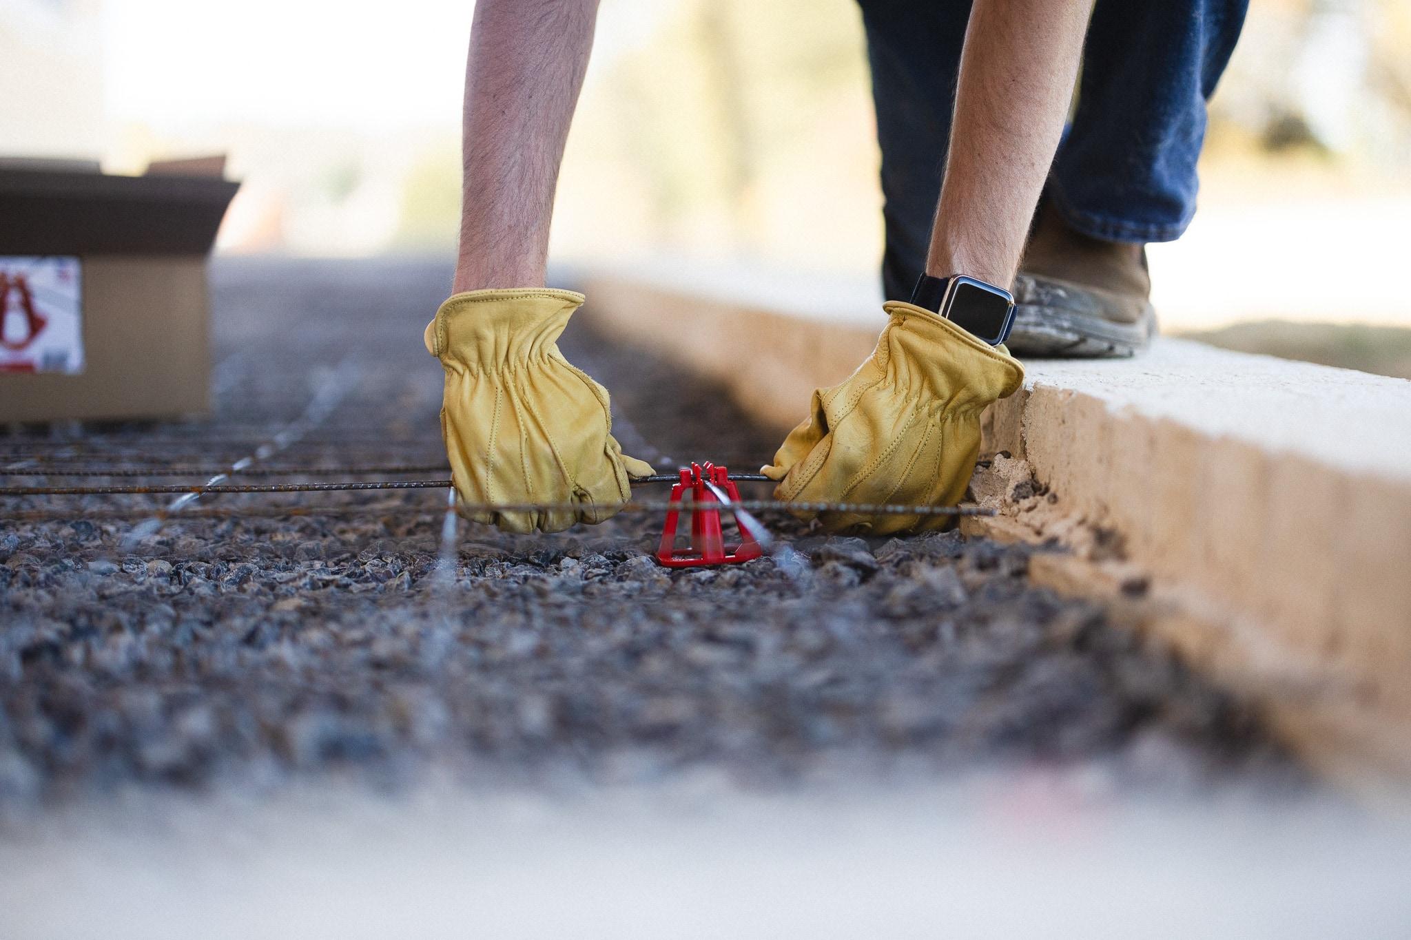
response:
[[[559,352],[581,293],[546,287],[471,290],[426,324],[446,366],[442,437],[464,503],[577,503],[573,512],[466,512],[508,531],[600,523],[652,466],[612,440],[608,393]]]

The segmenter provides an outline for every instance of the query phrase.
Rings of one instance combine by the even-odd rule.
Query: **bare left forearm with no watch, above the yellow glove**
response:
[[[559,162],[598,0],[480,0],[466,65],[454,290],[545,280]]]

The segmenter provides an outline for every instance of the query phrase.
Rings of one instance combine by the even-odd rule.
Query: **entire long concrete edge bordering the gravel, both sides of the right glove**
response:
[[[600,330],[780,431],[883,323],[619,272],[581,283]],[[1037,572],[1050,586],[1120,599],[1326,775],[1411,793],[1411,382],[1180,340],[1026,368],[985,414],[1002,457],[972,493],[1000,516],[971,531],[1064,544]]]

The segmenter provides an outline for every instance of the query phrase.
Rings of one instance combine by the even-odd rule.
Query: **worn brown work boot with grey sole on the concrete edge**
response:
[[[1043,206],[1015,278],[1009,351],[1024,357],[1126,357],[1156,333],[1146,248],[1092,238]]]

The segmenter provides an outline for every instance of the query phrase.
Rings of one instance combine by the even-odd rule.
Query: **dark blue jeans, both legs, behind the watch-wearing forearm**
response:
[[[926,262],[941,192],[968,0],[859,0],[872,65],[888,297]],[[1249,0],[1096,0],[1078,109],[1044,199],[1108,241],[1173,241],[1195,214],[1205,101],[1229,62]]]

